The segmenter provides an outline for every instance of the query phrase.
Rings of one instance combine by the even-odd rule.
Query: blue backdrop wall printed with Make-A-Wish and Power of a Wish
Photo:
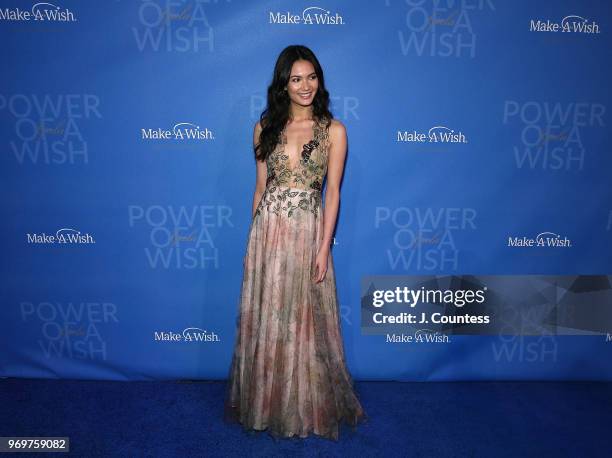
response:
[[[612,380],[608,2],[0,2],[0,376],[224,379],[279,52],[348,132],[356,380]]]

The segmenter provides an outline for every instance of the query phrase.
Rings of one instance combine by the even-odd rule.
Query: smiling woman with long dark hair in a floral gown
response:
[[[253,219],[226,399],[226,418],[280,437],[337,439],[340,421],[365,417],[338,320],[330,245],[347,140],[328,105],[313,52],[285,48],[253,133]]]

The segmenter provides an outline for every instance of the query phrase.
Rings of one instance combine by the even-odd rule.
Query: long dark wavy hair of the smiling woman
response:
[[[280,134],[289,120],[289,93],[285,87],[289,83],[291,67],[296,60],[307,60],[315,69],[319,87],[312,102],[313,117],[323,120],[325,126],[331,124],[333,118],[329,111],[329,92],[325,89],[323,69],[314,53],[302,45],[290,45],[281,51],[274,66],[272,83],[268,86],[268,102],[261,113],[259,122],[262,130],[259,143],[255,146],[255,159],[265,160],[280,141]]]

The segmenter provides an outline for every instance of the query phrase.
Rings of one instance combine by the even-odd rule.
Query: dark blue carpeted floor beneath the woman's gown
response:
[[[68,436],[70,456],[86,457],[612,455],[611,383],[355,387],[369,418],[334,442],[275,440],[224,423],[224,382],[9,378],[0,380],[0,436]]]

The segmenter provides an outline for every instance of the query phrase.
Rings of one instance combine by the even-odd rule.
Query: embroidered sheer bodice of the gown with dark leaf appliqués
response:
[[[312,140],[303,145],[297,164],[292,164],[291,162],[296,162],[296,159],[290,158],[285,153],[287,144],[285,130],[281,131],[280,142],[267,158],[266,187],[276,185],[321,192],[323,178],[327,173],[329,150],[329,132],[325,127],[325,121],[315,119]]]

